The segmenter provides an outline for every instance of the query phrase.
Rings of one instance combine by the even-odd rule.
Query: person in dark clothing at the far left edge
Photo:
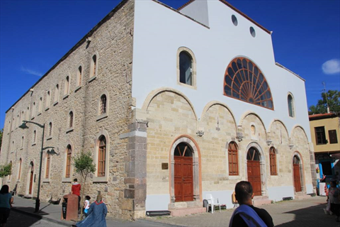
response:
[[[4,184],[0,190],[0,223],[2,227],[6,226],[12,204],[13,197],[11,193],[9,193],[8,185]]]

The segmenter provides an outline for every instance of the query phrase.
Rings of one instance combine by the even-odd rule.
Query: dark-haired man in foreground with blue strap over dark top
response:
[[[239,207],[235,209],[229,222],[229,227],[259,226],[273,227],[273,218],[265,209],[253,206],[253,187],[250,182],[238,182],[235,186],[235,197]]]

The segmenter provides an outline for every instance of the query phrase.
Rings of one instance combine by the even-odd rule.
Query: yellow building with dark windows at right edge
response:
[[[340,114],[310,115],[310,132],[314,144],[317,177],[340,179]],[[336,173],[338,172],[338,174]]]

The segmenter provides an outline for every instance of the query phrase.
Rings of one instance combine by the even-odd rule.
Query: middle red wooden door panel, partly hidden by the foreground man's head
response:
[[[246,169],[248,171],[248,181],[253,187],[255,196],[261,196],[261,169],[259,161],[246,161]]]

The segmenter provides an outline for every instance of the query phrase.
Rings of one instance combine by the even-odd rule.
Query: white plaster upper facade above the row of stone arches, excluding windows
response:
[[[266,129],[278,118],[289,132],[297,124],[302,126],[310,140],[305,82],[275,65],[271,35],[220,1],[208,1],[208,13],[210,28],[155,1],[135,2],[132,96],[136,107],[142,107],[152,90],[171,87],[188,96],[199,118],[205,104],[217,100],[232,109],[237,123],[246,111],[254,111]],[[232,14],[237,16],[238,26],[232,23]],[[249,33],[250,26],[256,38]],[[196,90],[177,84],[176,52],[181,46],[195,54]],[[223,95],[225,70],[237,56],[249,57],[259,66],[271,87],[274,111]],[[288,92],[295,98],[295,118],[288,116]]]

